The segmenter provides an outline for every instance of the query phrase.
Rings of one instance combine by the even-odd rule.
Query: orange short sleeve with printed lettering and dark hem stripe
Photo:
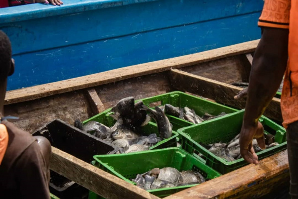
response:
[[[291,0],[265,0],[258,26],[289,28]]]

